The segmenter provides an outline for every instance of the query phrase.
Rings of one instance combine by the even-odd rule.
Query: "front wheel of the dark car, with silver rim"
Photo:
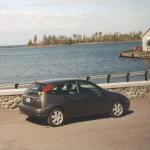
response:
[[[110,115],[113,118],[118,118],[123,116],[125,112],[125,107],[121,101],[115,101],[113,102],[111,109],[110,109]]]

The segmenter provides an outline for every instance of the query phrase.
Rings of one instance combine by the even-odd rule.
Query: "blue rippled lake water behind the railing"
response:
[[[141,42],[0,48],[0,84],[150,69],[150,60],[119,58]]]

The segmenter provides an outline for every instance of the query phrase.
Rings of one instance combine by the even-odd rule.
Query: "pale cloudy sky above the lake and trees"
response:
[[[0,45],[27,44],[35,34],[144,31],[149,7],[150,0],[0,1]]]

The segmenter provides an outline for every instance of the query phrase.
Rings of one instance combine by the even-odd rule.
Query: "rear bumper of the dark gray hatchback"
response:
[[[47,117],[46,110],[44,109],[37,109],[28,105],[25,105],[23,103],[19,104],[20,111],[30,117],[40,117],[44,118]]]

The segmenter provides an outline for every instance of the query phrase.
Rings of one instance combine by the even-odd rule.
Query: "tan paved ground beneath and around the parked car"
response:
[[[132,100],[121,118],[93,116],[52,128],[19,110],[0,110],[0,150],[149,150],[150,98]]]

